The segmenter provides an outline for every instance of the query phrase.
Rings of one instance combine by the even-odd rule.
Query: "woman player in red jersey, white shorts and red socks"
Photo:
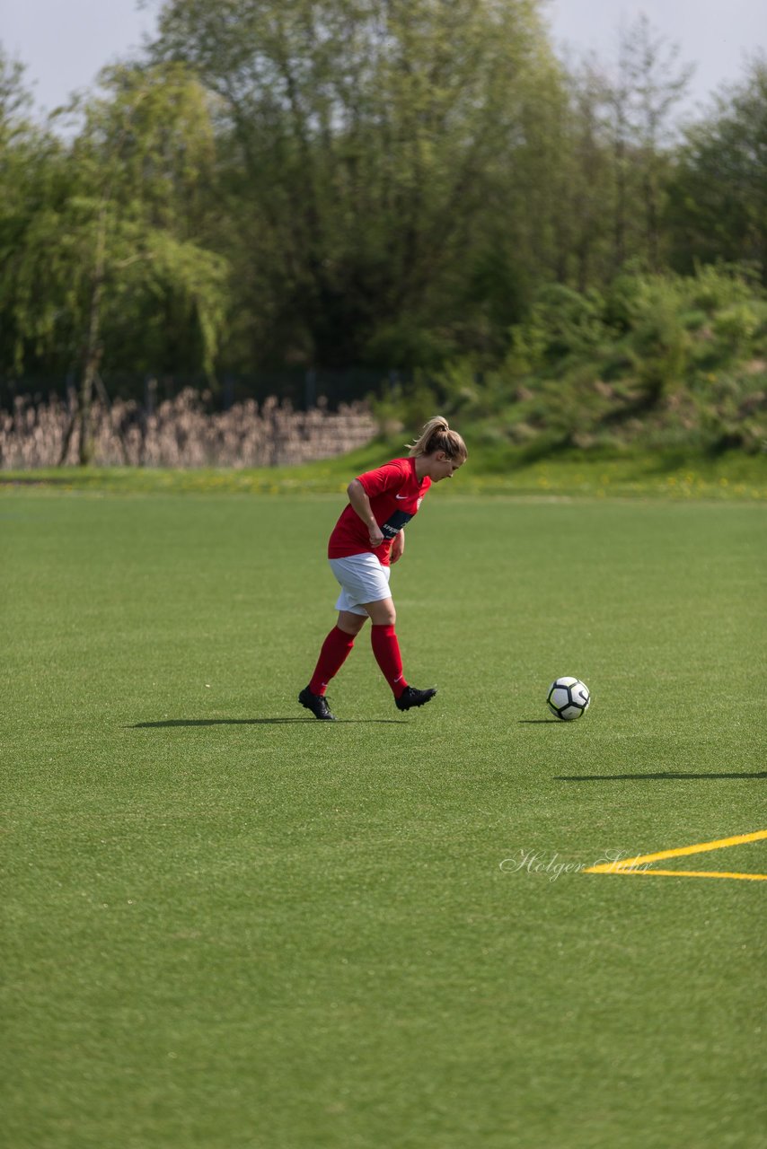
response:
[[[322,645],[312,681],[298,701],[315,718],[333,719],[325,689],[346,661],[354,639],[370,619],[373,653],[392,688],[398,710],[422,707],[437,693],[408,686],[394,633],[397,614],[389,589],[390,563],[402,557],[409,523],[432,483],[452,479],[468,457],[460,434],[440,415],[429,419],[407,458],[352,479],[348,506],[328,543],[328,558],[340,583],[338,623]]]

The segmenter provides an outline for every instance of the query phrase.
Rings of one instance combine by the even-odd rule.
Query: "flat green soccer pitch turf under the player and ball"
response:
[[[342,506],[0,498],[6,1144],[764,1147],[767,882],[582,872],[767,828],[764,504],[444,484],[317,723]]]

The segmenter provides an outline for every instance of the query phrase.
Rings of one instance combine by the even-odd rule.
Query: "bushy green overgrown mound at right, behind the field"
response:
[[[430,398],[499,468],[563,448],[759,453],[766,356],[767,295],[752,277],[626,275],[605,296],[546,288],[500,367],[455,363]]]

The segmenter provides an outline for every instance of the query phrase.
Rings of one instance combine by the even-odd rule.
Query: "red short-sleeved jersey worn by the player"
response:
[[[382,566],[389,566],[392,539],[417,512],[431,479],[428,476],[419,479],[414,458],[392,458],[390,463],[356,478],[370,500],[373,517],[381,527],[384,541],[374,550],[367,525],[347,503],[330,535],[328,558],[348,558],[350,555],[367,553],[375,555]]]

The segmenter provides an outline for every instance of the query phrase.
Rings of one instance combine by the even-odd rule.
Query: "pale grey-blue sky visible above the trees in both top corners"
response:
[[[103,67],[140,45],[155,26],[160,0],[0,0],[0,41],[28,65],[39,111],[87,88]],[[558,49],[615,56],[618,30],[645,13],[653,29],[695,63],[685,110],[693,113],[722,83],[737,79],[749,53],[767,48],[765,0],[545,0]]]

